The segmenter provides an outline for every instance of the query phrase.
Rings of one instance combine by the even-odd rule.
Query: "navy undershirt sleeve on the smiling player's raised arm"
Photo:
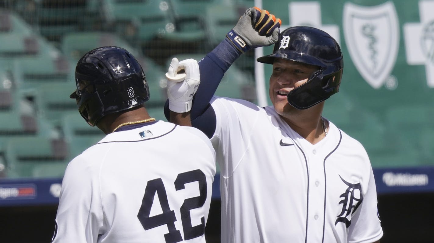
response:
[[[209,138],[213,136],[216,127],[216,116],[210,105],[224,73],[232,63],[240,57],[240,52],[225,38],[217,47],[208,53],[198,64],[201,84],[193,97],[191,107],[191,123],[204,132]],[[169,120],[169,102],[164,105],[164,115]]]

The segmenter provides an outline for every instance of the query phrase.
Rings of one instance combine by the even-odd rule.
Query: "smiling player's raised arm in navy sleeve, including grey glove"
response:
[[[202,85],[199,86],[193,99],[191,120],[193,126],[199,128],[208,137],[215,130],[215,113],[209,102],[213,97],[224,73],[241,54],[249,49],[272,45],[279,37],[281,21],[266,10],[251,7],[238,20],[226,38],[208,53],[200,62]],[[169,102],[166,102],[164,113],[169,115]]]

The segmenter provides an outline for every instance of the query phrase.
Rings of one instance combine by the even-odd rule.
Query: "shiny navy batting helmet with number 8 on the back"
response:
[[[76,66],[76,85],[70,98],[91,126],[105,115],[127,110],[149,100],[141,65],[131,53],[116,46],[93,49]]]

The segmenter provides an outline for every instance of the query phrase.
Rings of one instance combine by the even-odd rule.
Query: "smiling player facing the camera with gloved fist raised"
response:
[[[273,19],[266,34],[255,29],[263,19]],[[368,155],[322,117],[324,101],[341,83],[341,49],[312,27],[279,34],[277,22],[265,10],[248,9],[199,62],[191,119],[211,139],[221,167],[221,242],[379,242]],[[235,59],[274,42],[273,53],[257,59],[272,65],[273,106],[213,96]]]

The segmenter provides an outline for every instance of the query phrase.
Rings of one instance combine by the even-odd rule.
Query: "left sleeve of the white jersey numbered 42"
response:
[[[66,168],[57,209],[54,243],[94,243],[105,230],[99,181],[92,176],[97,171],[86,165],[90,165],[90,162],[79,156]]]

